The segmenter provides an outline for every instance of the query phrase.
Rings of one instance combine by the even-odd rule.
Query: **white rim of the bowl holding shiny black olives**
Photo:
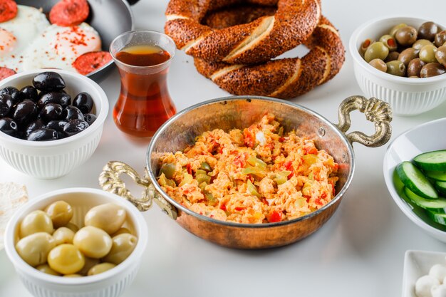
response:
[[[66,143],[68,143],[68,142],[73,142],[81,137],[85,137],[87,135],[92,134],[95,130],[98,130],[100,128],[100,126],[105,122],[105,118],[107,118],[107,115],[108,115],[107,95],[105,95],[104,90],[102,88],[100,88],[98,83],[95,83],[94,80],[86,77],[85,75],[81,75],[80,73],[76,73],[73,71],[61,70],[61,69],[38,69],[38,70],[32,70],[32,71],[24,71],[21,73],[11,75],[11,76],[9,76],[9,78],[5,78],[4,80],[1,80],[0,88],[4,88],[8,85],[14,86],[14,80],[16,80],[17,78],[27,76],[27,75],[37,75],[38,73],[42,73],[45,71],[53,71],[53,72],[59,73],[62,75],[63,80],[69,80],[72,77],[78,78],[79,80],[82,80],[86,85],[91,85],[95,89],[95,91],[98,94],[95,94],[95,95],[90,94],[93,97],[93,102],[95,103],[95,105],[97,102],[100,103],[100,106],[96,105],[96,108],[97,109],[100,108],[100,110],[99,110],[99,113],[96,114],[97,118],[96,118],[95,122],[92,125],[90,125],[90,127],[83,130],[82,132],[79,132],[76,135],[66,137],[66,138],[63,138],[60,140],[29,141],[29,140],[23,140],[20,138],[12,137],[12,136],[7,135],[3,132],[0,132],[0,140],[12,142],[12,143],[15,143],[16,145],[23,145],[26,147],[57,147],[59,145],[66,145]],[[32,85],[32,78],[29,81],[29,85]],[[73,94],[73,96],[74,95],[77,95],[77,94]],[[74,98],[74,97],[72,97],[72,98]]]

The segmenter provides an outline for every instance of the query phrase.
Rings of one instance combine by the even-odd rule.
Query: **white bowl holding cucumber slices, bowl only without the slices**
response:
[[[394,182],[395,167],[400,162],[410,161],[422,152],[446,148],[446,137],[439,135],[442,131],[446,131],[446,118],[419,125],[399,135],[390,143],[385,152],[383,170],[388,191],[401,211],[428,234],[446,242],[446,231],[442,231],[441,226],[432,222],[424,210],[405,202],[402,198],[404,195],[401,193],[401,186]]]

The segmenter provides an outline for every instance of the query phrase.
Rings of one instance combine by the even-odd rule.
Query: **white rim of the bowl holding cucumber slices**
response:
[[[437,236],[445,236],[446,232],[442,231],[440,229],[435,228],[434,226],[431,226],[430,224],[427,224],[424,222],[420,217],[418,217],[415,212],[410,209],[408,204],[403,201],[403,198],[400,197],[398,192],[395,190],[395,185],[393,184],[393,179],[391,176],[389,176],[389,167],[388,167],[388,155],[390,154],[390,151],[392,150],[393,144],[400,139],[400,137],[405,137],[408,133],[412,132],[413,130],[418,130],[426,126],[435,125],[436,123],[445,122],[446,124],[446,118],[440,118],[437,120],[432,120],[427,123],[423,123],[421,125],[418,125],[416,127],[410,128],[409,130],[406,130],[405,132],[401,133],[396,137],[392,142],[390,142],[387,150],[385,151],[384,155],[384,162],[383,162],[383,172],[384,172],[384,180],[385,184],[387,185],[388,191],[390,192],[390,195],[392,196],[393,200],[396,204],[398,204],[398,207],[403,211],[403,213],[409,217],[409,219],[412,222],[415,222],[418,226],[420,226],[422,229],[425,229],[425,231],[429,231],[432,234],[436,234]],[[409,161],[409,160],[408,160]]]

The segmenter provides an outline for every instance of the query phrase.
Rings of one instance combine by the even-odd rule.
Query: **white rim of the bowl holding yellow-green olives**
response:
[[[121,264],[115,266],[113,269],[110,269],[108,271],[105,271],[103,273],[97,274],[95,276],[84,276],[80,278],[64,278],[61,276],[52,276],[47,273],[43,273],[41,271],[38,271],[34,269],[32,266],[27,264],[16,251],[16,248],[14,246],[14,232],[15,232],[15,226],[17,224],[17,221],[19,218],[23,217],[24,214],[28,213],[33,209],[34,205],[38,204],[38,202],[41,202],[42,200],[45,200],[47,198],[59,195],[59,194],[69,194],[69,193],[91,193],[91,194],[99,194],[106,196],[108,199],[118,202],[120,204],[125,204],[125,208],[128,212],[133,214],[133,217],[135,218],[135,229],[138,233],[138,243],[136,244],[135,249],[133,250],[132,254],[128,256],[125,261],[123,261]],[[4,241],[5,241],[5,250],[6,254],[9,256],[9,259],[13,262],[14,266],[16,266],[16,269],[19,269],[21,271],[24,271],[27,275],[31,275],[34,278],[37,278],[40,281],[44,281],[46,283],[53,283],[58,285],[68,285],[68,286],[78,286],[78,285],[88,285],[92,283],[98,283],[100,281],[105,280],[105,278],[110,278],[113,276],[116,276],[120,273],[123,273],[126,269],[129,269],[129,267],[133,264],[135,264],[135,261],[140,261],[140,258],[142,256],[142,253],[145,251],[145,246],[147,245],[147,224],[145,222],[144,217],[142,217],[142,214],[140,211],[130,202],[127,200],[119,197],[116,194],[112,194],[110,192],[105,192],[101,189],[92,189],[92,188],[68,188],[68,189],[59,189],[56,191],[48,192],[46,194],[42,194],[35,199],[31,199],[28,201],[24,206],[22,206],[17,212],[14,214],[13,217],[9,220],[7,226],[6,226],[6,232],[4,234]]]

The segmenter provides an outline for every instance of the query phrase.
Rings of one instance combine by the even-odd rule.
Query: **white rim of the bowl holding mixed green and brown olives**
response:
[[[350,50],[351,56],[353,56],[353,59],[358,62],[358,65],[360,65],[362,68],[365,68],[366,71],[370,71],[379,78],[382,78],[383,80],[390,80],[395,83],[403,83],[407,85],[423,85],[423,84],[431,84],[436,83],[440,80],[445,80],[446,82],[446,73],[442,75],[433,76],[432,78],[422,78],[422,79],[416,79],[416,78],[406,78],[406,77],[400,77],[397,75],[390,75],[388,73],[384,73],[383,71],[379,71],[376,68],[373,68],[370,66],[367,62],[365,62],[364,58],[361,57],[358,48],[356,46],[358,42],[358,38],[361,35],[361,33],[370,26],[375,26],[376,24],[382,22],[382,21],[388,21],[391,19],[413,19],[414,21],[433,21],[435,24],[439,25],[443,30],[446,29],[446,26],[442,24],[440,21],[432,20],[429,18],[421,18],[418,16],[382,16],[375,19],[371,19],[370,21],[365,22],[364,24],[361,24],[358,28],[356,28],[355,31],[353,31],[353,34],[351,35],[350,41],[348,43],[348,48]],[[408,21],[409,23],[409,21]],[[395,25],[398,25],[398,21],[395,21]],[[408,24],[410,26],[410,24]],[[390,28],[389,28],[390,30]],[[370,36],[372,38],[373,36]]]

